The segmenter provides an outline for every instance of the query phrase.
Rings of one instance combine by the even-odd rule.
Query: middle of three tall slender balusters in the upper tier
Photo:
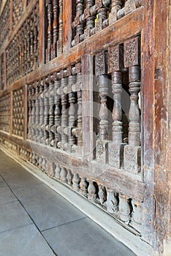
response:
[[[53,0],[53,45],[50,49],[50,59],[56,57],[56,42],[58,40],[58,0]]]

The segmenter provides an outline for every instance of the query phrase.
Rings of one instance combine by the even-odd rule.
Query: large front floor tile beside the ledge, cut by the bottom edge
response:
[[[43,232],[58,256],[135,256],[88,217]]]

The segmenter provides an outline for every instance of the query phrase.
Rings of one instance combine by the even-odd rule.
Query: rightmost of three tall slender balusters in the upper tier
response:
[[[57,42],[57,56],[63,53],[63,0],[58,1],[59,18],[58,18],[58,42]]]

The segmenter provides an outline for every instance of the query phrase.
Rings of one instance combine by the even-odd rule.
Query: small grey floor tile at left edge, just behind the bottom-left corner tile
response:
[[[0,233],[12,230],[32,223],[30,217],[18,201],[11,203],[1,203],[0,205]]]

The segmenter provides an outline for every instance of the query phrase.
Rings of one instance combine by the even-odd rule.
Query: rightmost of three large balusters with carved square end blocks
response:
[[[124,66],[129,67],[129,146],[124,150],[124,167],[126,170],[140,172],[140,109],[138,105],[140,92],[140,37],[124,42]]]

